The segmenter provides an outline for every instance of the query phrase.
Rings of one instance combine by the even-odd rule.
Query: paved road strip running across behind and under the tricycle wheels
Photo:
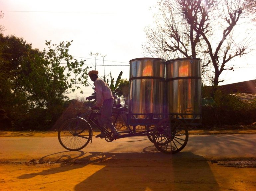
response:
[[[146,138],[129,137],[109,143],[104,139],[93,137],[92,144],[88,144],[87,147],[76,153],[83,157],[91,156],[93,153],[138,153],[135,155],[138,157],[148,157],[151,153],[157,153],[159,157],[170,157],[170,155],[157,151],[153,143]],[[0,145],[0,160],[2,161],[29,161],[66,152],[57,137],[0,137]],[[200,156],[205,159],[255,158],[256,134],[190,135],[187,146],[175,156],[180,155],[184,158],[186,157],[184,153],[193,154],[188,155],[189,158],[193,156]]]

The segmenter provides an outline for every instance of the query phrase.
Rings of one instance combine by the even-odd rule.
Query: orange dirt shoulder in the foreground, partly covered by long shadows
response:
[[[220,161],[192,153],[169,158],[158,157],[158,153],[96,153],[75,159],[76,154],[0,163],[0,190],[256,190],[255,168],[219,165]],[[60,162],[64,158],[68,161]]]

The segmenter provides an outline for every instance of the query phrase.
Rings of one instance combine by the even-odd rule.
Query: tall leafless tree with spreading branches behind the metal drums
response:
[[[217,87],[220,74],[234,70],[226,63],[252,50],[245,29],[239,27],[239,38],[234,33],[253,11],[255,0],[160,1],[155,26],[145,28],[144,50],[164,59],[202,58],[202,67],[213,68],[211,82]]]

